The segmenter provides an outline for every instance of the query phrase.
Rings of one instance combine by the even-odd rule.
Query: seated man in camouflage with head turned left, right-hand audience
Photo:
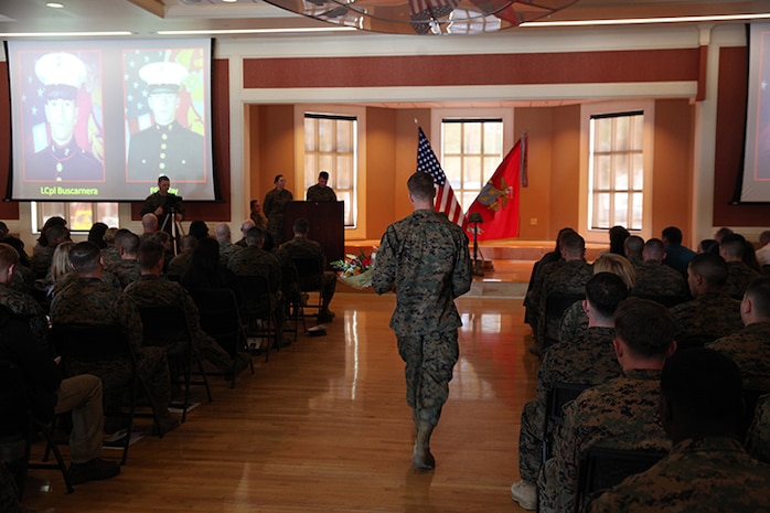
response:
[[[727,279],[727,263],[719,255],[696,255],[687,268],[689,293],[695,298],[672,307],[671,313],[680,328],[680,345],[703,345],[727,336],[744,327],[740,301],[727,296],[723,288]]]

